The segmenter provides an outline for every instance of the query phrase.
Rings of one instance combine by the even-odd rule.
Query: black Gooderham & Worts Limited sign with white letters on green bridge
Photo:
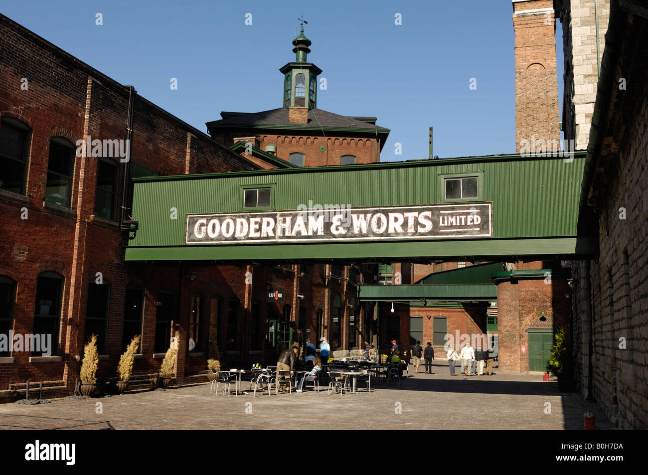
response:
[[[185,244],[492,237],[492,203],[187,214]]]

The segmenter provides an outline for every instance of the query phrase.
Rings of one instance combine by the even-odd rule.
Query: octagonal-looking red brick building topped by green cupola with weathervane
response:
[[[380,161],[389,129],[377,126],[376,117],[318,109],[317,76],[322,71],[307,62],[311,42],[302,30],[292,44],[295,61],[279,69],[283,106],[257,113],[221,112],[222,119],[207,122],[214,140],[225,146],[248,141],[299,167]]]

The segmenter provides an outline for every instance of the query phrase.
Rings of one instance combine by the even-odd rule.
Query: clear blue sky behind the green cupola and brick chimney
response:
[[[28,6],[29,5],[29,6]],[[1,12],[206,132],[220,111],[282,106],[279,67],[303,15],[318,108],[391,129],[381,160],[515,152],[509,0],[31,1]],[[103,25],[95,25],[101,13]],[[252,25],[246,25],[251,13]],[[402,25],[395,25],[395,14]],[[562,78],[561,25],[558,77]],[[170,78],[178,89],[170,89]],[[469,89],[476,78],[475,90]],[[559,97],[562,84],[559,81]],[[561,100],[562,103],[562,100]],[[562,105],[561,105],[562,107]],[[395,155],[395,143],[402,155]]]

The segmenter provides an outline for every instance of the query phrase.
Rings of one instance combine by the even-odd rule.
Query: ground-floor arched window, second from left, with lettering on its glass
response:
[[[63,283],[63,276],[56,272],[43,272],[39,274],[36,283],[34,334],[52,336],[51,354],[58,353],[58,329],[61,324]],[[35,351],[32,351],[32,354],[38,356],[38,353]]]

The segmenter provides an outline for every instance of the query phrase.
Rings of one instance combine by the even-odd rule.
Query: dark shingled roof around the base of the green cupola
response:
[[[308,111],[308,124],[295,124],[288,122],[288,108],[282,107],[263,112],[221,112],[220,121],[207,122],[207,127],[220,126],[220,125],[256,125],[256,126],[294,126],[295,128],[307,127],[334,127],[334,128],[356,128],[356,129],[371,129],[371,130],[384,130],[389,132],[389,129],[358,120],[356,117],[347,117],[345,115],[334,114],[329,111],[321,109],[313,109]],[[317,118],[316,118],[317,117]],[[361,117],[360,119],[373,120],[375,117]]]

